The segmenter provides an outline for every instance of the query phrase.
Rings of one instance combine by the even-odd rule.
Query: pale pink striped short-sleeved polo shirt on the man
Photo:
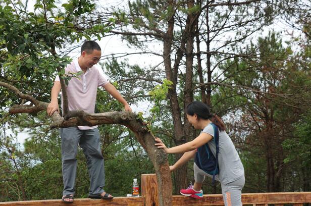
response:
[[[82,70],[79,66],[78,59],[71,62],[65,69],[65,73],[69,75],[80,71]],[[60,81],[59,76],[55,78],[55,81]],[[84,74],[79,75],[79,78],[71,78],[67,85],[69,111],[83,110],[86,113],[94,113],[97,87],[104,86],[108,83],[108,79],[96,66],[88,68]],[[61,107],[63,108],[63,97]],[[94,129],[96,127],[97,125],[92,127],[78,126],[81,130]]]

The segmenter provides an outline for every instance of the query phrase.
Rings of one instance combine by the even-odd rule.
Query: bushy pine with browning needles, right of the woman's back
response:
[[[297,116],[304,112],[295,107],[308,105],[310,93],[305,89],[310,81],[305,72],[308,69],[290,61],[294,55],[291,47],[284,47],[279,34],[275,33],[258,38],[256,43],[251,42],[240,53],[249,58],[228,60],[220,68],[228,85],[241,86],[218,89],[213,103],[218,111],[230,111],[227,115],[229,120],[239,119],[231,122],[229,128],[234,141],[245,142],[240,145],[240,156],[245,168],[246,187],[256,192],[286,191],[292,188],[290,176],[301,171],[293,161],[296,156],[292,156],[297,154],[298,144],[303,151],[310,148],[309,142],[297,140],[298,132],[293,128],[297,122],[305,122]],[[252,58],[258,56],[258,59]],[[218,105],[220,102],[225,104]],[[301,134],[305,136],[303,132]],[[290,146],[295,147],[295,151],[291,151],[293,148]],[[305,154],[303,151],[301,153]],[[309,157],[304,158],[307,160]],[[279,177],[269,170],[279,173],[284,184],[276,183]],[[301,175],[308,176],[307,173]],[[269,183],[271,178],[274,180]],[[262,184],[263,181],[268,183]],[[272,188],[273,184],[279,186]]]

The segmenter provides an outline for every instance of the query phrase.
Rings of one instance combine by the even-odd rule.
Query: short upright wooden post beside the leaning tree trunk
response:
[[[155,174],[141,175],[141,196],[145,198],[145,206],[157,206],[158,182]]]

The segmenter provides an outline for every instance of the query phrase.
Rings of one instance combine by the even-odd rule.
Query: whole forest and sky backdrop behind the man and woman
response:
[[[184,108],[200,100],[227,125],[245,169],[243,192],[311,191],[310,10],[310,1],[302,0],[113,5],[3,0],[0,201],[57,199],[63,189],[59,130],[50,128],[46,112],[10,114],[14,105],[29,105],[10,85],[49,102],[55,76],[71,61],[69,55],[85,39],[114,36],[127,47],[118,54],[105,48],[99,65],[130,104],[145,108],[140,115],[168,146],[198,134]],[[98,89],[96,113],[108,111],[122,111],[122,106]],[[133,178],[154,173],[152,163],[127,128],[98,128],[105,190],[125,196]],[[29,136],[23,146],[17,140],[22,132]],[[169,162],[179,158],[169,155]],[[77,159],[75,197],[86,197],[82,150]],[[172,173],[174,194],[193,181],[192,167],[189,162]],[[221,187],[207,179],[203,191],[221,193]]]

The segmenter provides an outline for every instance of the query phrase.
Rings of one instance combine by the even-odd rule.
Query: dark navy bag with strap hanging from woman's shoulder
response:
[[[213,175],[213,185],[215,183],[215,175],[219,174],[219,166],[218,166],[218,153],[219,153],[219,132],[218,127],[211,123],[214,129],[214,141],[216,144],[216,158],[214,157],[212,150],[209,147],[208,142],[206,144],[197,148],[195,153],[195,164],[203,170],[205,173]]]

